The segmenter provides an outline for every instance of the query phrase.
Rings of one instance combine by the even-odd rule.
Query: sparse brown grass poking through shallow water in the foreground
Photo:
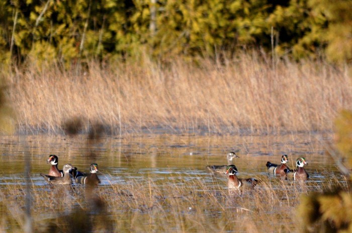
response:
[[[295,207],[300,196],[341,185],[297,183],[261,177],[253,191],[229,194],[214,177],[214,185],[201,177],[160,185],[131,179],[128,184],[36,186],[32,184],[32,218],[35,232],[297,232]],[[180,185],[180,182],[183,185]],[[24,185],[0,189],[2,232],[22,232]]]

